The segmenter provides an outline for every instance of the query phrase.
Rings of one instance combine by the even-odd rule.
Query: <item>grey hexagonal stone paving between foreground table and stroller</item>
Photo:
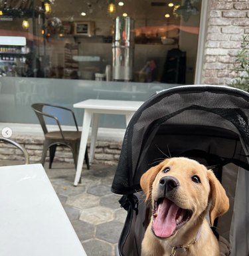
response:
[[[15,164],[10,162],[6,165]],[[116,166],[93,165],[82,171],[82,184],[73,186],[73,164],[44,166],[88,256],[114,256],[126,211],[120,195],[111,192]]]

